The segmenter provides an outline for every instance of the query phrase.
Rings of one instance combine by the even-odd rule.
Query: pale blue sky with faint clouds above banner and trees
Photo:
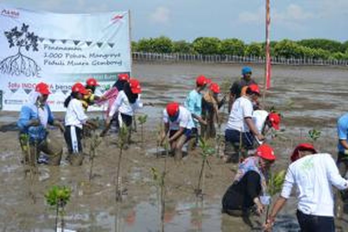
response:
[[[131,36],[264,41],[266,0],[0,0],[56,13],[131,12]],[[271,40],[348,40],[348,0],[270,0]]]

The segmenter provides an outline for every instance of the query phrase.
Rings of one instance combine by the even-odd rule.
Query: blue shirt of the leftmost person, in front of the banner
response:
[[[54,120],[53,114],[47,104],[44,107],[45,111],[48,114],[47,122],[52,124]],[[19,119],[17,121],[17,126],[19,127],[19,130],[21,131],[21,133],[29,135],[30,142],[41,142],[47,136],[46,127],[44,125],[28,126],[29,121],[31,119],[40,120],[38,107],[34,104],[22,106],[21,113],[19,114]]]

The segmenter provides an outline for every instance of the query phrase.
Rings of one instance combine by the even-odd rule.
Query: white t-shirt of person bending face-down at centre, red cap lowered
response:
[[[192,129],[195,127],[195,124],[193,123],[193,120],[192,120],[191,112],[183,106],[179,106],[179,116],[174,122],[169,120],[167,110],[164,109],[163,121],[165,123],[169,122],[169,130],[179,130],[180,127],[183,127],[186,129]]]

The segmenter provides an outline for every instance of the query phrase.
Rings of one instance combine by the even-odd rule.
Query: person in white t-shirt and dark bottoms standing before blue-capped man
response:
[[[239,97],[232,105],[225,131],[225,155],[232,162],[238,162],[240,157],[237,151],[240,148],[246,150],[253,148],[254,137],[259,141],[264,140],[264,136],[252,120],[254,111],[252,102],[259,96],[259,86],[252,84],[247,88],[246,95]]]

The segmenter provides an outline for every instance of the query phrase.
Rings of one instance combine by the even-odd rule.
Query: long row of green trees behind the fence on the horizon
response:
[[[132,41],[132,51],[148,53],[182,53],[203,55],[265,55],[265,43],[245,43],[232,38],[198,37],[193,42],[172,41],[168,37],[143,38]],[[284,58],[313,58],[348,60],[348,41],[339,42],[329,39],[303,39],[298,41],[284,39],[270,42],[271,56]]]

